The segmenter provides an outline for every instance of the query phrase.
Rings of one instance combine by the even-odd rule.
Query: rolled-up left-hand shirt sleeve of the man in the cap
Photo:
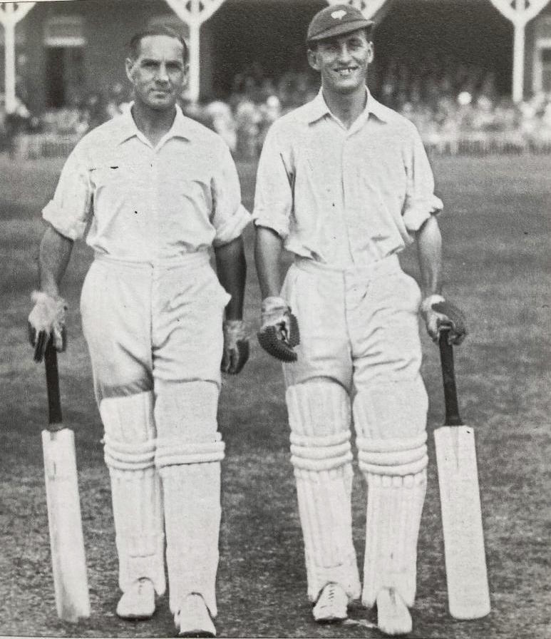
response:
[[[252,218],[257,226],[271,228],[286,239],[293,209],[294,174],[275,126],[268,131],[257,170]]]

